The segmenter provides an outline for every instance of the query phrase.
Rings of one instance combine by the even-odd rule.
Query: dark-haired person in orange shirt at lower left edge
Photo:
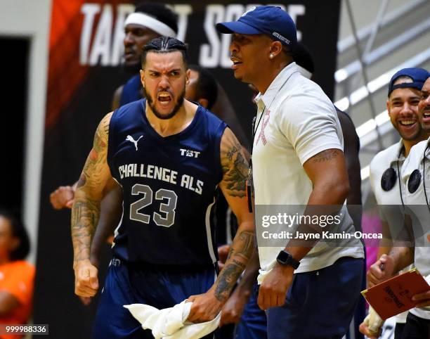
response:
[[[32,310],[34,266],[25,261],[30,241],[24,225],[0,210],[0,325],[27,324]],[[1,334],[0,339],[22,335]]]

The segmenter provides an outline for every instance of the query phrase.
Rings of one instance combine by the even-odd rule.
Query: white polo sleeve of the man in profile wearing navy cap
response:
[[[292,96],[282,103],[278,116],[281,132],[294,147],[301,165],[327,149],[343,151],[336,114],[330,101],[314,96]]]

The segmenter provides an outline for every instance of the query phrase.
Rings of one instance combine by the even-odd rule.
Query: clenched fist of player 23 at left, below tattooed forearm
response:
[[[98,290],[98,269],[89,260],[74,262],[74,293],[93,297]]]

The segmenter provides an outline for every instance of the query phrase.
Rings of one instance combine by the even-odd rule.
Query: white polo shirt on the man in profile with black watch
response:
[[[256,103],[252,152],[256,210],[267,205],[303,205],[303,212],[313,189],[304,171],[304,162],[330,148],[343,150],[343,136],[334,105],[315,82],[299,73],[296,63],[284,68],[266,93],[256,97]],[[339,216],[340,231],[352,234],[355,229],[345,205]],[[256,220],[256,227],[257,232],[261,230],[259,220]],[[278,253],[287,243],[287,239],[283,246],[259,243],[261,274],[274,266]],[[295,272],[322,269],[341,257],[364,257],[360,241],[356,238],[344,240],[341,247],[320,241],[301,260]]]

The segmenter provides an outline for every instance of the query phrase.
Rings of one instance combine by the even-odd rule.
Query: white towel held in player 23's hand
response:
[[[152,330],[155,339],[199,339],[216,330],[221,320],[221,312],[211,321],[194,324],[187,321],[192,304],[183,300],[180,304],[166,309],[143,304],[124,307],[129,309],[144,330]]]

